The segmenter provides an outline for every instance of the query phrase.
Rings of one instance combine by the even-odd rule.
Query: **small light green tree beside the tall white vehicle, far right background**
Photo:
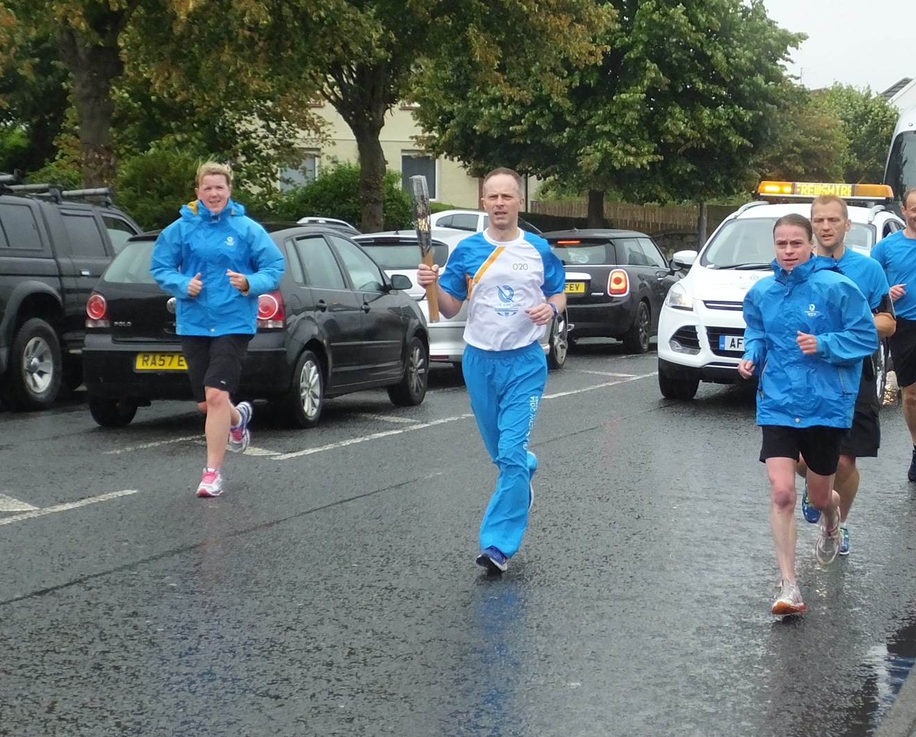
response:
[[[857,90],[842,84],[812,92],[812,98],[815,105],[834,116],[847,141],[842,180],[882,181],[888,143],[897,125],[897,108],[870,88]]]

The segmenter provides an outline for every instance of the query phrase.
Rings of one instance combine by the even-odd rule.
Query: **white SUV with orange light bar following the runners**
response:
[[[772,274],[773,226],[780,217],[790,212],[809,217],[814,196],[838,194],[848,203],[853,222],[845,244],[866,255],[881,238],[903,228],[904,222],[888,209],[889,202],[886,205],[884,192],[877,187],[763,182],[758,193],[768,200],[747,202],[729,215],[698,254],[674,254],[671,266],[689,266],[690,272],[671,287],[659,316],[662,396],[692,399],[701,381],[738,381],[737,364],[744,353],[744,297],[758,279]],[[882,351],[878,361],[883,362],[885,354]],[[882,371],[879,384],[883,379]],[[882,392],[883,385],[878,396]]]

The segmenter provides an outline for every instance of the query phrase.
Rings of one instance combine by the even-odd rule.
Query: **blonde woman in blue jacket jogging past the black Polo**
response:
[[[248,341],[257,331],[257,298],[276,289],[283,255],[261,225],[230,199],[232,169],[197,169],[197,200],[181,207],[153,246],[150,272],[176,299],[176,331],[197,406],[207,415],[207,464],[198,496],[223,493],[226,451],[248,447],[252,406],[234,406]]]

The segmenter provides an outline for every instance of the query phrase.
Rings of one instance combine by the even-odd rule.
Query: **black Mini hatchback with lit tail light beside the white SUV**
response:
[[[646,233],[605,228],[541,233],[566,268],[569,341],[615,338],[627,352],[649,351],[661,305],[682,273]]]

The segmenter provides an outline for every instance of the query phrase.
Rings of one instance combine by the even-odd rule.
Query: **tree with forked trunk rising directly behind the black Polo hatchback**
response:
[[[455,39],[463,39],[462,55],[507,90],[509,80],[523,74],[559,85],[563,61],[594,58],[589,29],[603,27],[605,16],[602,7],[582,0],[505,0],[498,6],[477,0],[236,0],[218,14],[210,6],[191,7],[167,27],[178,38],[169,49],[182,50],[159,69],[163,78],[180,69],[182,76],[232,81],[226,70],[241,49],[246,81],[272,81],[286,90],[295,85],[333,105],[356,140],[362,229],[368,233],[384,222],[380,131],[427,59],[442,49],[452,53]],[[154,84],[157,79],[154,73]]]

